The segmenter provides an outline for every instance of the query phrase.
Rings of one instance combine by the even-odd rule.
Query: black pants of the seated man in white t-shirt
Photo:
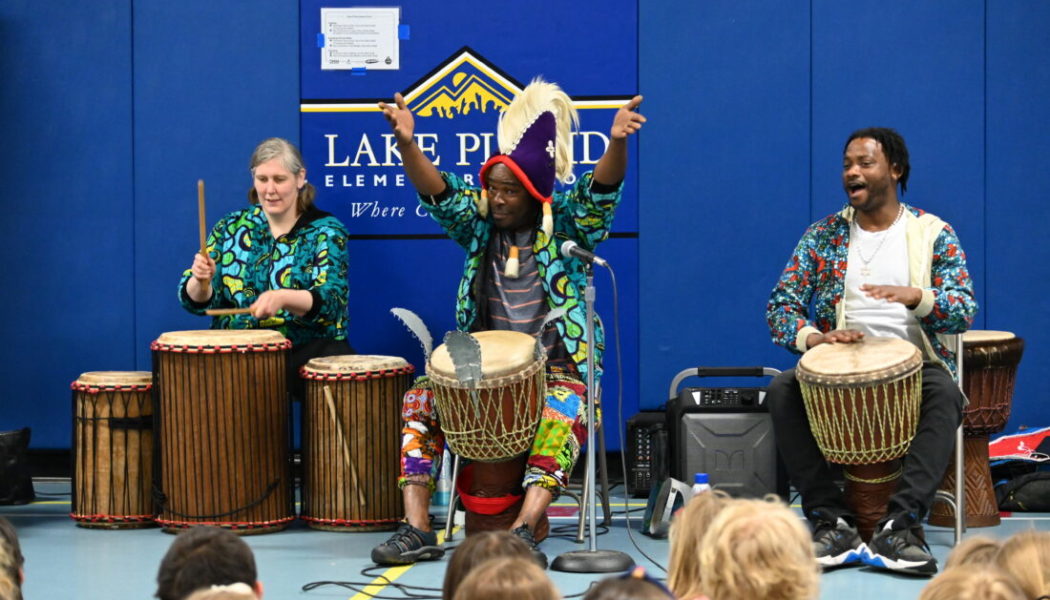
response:
[[[842,491],[810,430],[795,370],[777,375],[766,390],[777,450],[788,476],[802,496],[802,512],[815,518],[849,515]],[[932,363],[923,365],[919,429],[903,459],[903,474],[889,498],[887,515],[909,515],[918,523],[929,510],[956,443],[963,395],[951,375]]]

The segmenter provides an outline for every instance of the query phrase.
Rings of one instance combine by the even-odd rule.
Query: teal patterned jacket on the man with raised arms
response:
[[[447,189],[443,200],[435,204],[429,196],[420,195],[420,205],[429,212],[448,236],[466,250],[463,277],[460,280],[456,302],[456,326],[461,331],[472,331],[478,320],[478,276],[488,240],[496,225],[490,216],[478,212],[481,190],[468,186],[455,174],[442,172]],[[587,172],[566,192],[553,198],[554,235],[547,237],[542,229],[537,231],[536,253],[540,280],[547,295],[548,310],[565,308],[566,315],[554,322],[563,344],[575,363],[581,375],[587,374],[587,323],[583,302],[587,275],[582,261],[564,258],[559,246],[573,240],[581,247],[593,250],[609,236],[612,218],[620,204],[622,185],[613,191],[601,193],[591,189],[593,173]],[[597,184],[595,183],[595,186]],[[605,333],[601,319],[594,323],[594,377],[602,374],[602,354]]]

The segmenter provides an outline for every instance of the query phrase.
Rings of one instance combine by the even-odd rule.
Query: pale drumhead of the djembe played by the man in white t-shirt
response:
[[[802,355],[796,376],[820,385],[875,384],[915,372],[922,353],[898,337],[865,337],[853,344],[821,344]]]

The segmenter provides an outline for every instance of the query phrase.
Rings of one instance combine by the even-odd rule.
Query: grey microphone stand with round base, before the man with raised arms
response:
[[[587,305],[587,484],[584,497],[587,502],[581,506],[586,511],[590,530],[590,547],[573,550],[558,555],[550,568],[568,573],[621,573],[634,566],[634,559],[616,550],[597,550],[597,495],[594,493],[594,401],[597,390],[594,387],[594,267],[587,265],[587,287],[584,302]]]

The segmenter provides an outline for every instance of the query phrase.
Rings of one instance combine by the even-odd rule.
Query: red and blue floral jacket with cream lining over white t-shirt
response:
[[[950,225],[905,205],[905,235],[910,285],[922,299],[910,313],[923,331],[923,356],[954,373],[954,346],[945,335],[969,329],[976,314],[966,254]],[[805,338],[845,326],[846,257],[854,209],[818,221],[806,229],[765,307],[773,340],[805,352]],[[807,318],[812,304],[814,318]]]

